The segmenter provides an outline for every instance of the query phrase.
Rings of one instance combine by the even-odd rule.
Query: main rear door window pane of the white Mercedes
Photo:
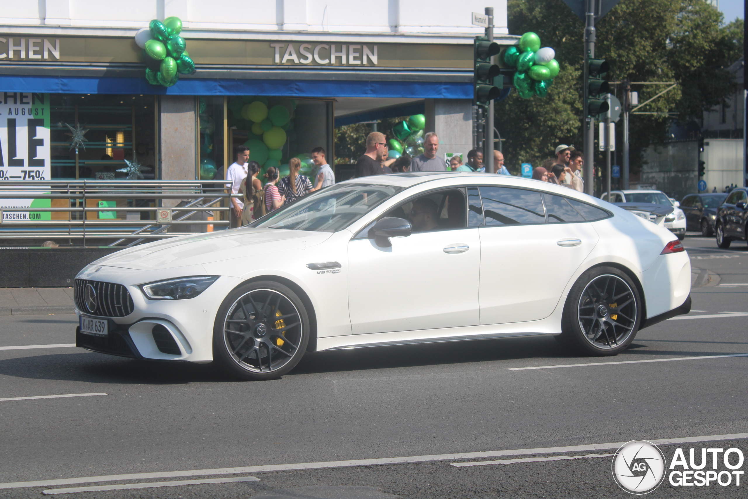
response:
[[[481,186],[479,190],[487,226],[545,224],[540,192],[491,186]]]

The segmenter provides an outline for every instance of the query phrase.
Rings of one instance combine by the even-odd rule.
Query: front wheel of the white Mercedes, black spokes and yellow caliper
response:
[[[237,287],[218,308],[213,358],[237,379],[278,379],[301,361],[309,336],[309,315],[296,293],[256,281]]]

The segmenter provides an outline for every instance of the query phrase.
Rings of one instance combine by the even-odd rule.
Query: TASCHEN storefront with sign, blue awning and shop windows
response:
[[[208,180],[238,144],[283,165],[318,146],[334,155],[336,124],[416,112],[442,149],[468,150],[471,39],[403,38],[187,33],[196,72],[165,88],[144,77],[133,37],[0,34],[0,178]]]

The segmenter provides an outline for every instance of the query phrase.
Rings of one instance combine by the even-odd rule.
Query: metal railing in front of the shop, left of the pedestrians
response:
[[[84,246],[86,239],[116,239],[108,245],[132,246],[146,239],[224,229],[230,225],[229,199],[241,197],[228,194],[230,185],[225,180],[4,180],[0,239],[82,238]],[[8,200],[25,200],[26,206],[44,200],[49,207],[9,206],[13,203]],[[169,206],[171,222],[162,223],[156,212],[168,207],[163,206],[165,200],[180,200],[183,206]],[[43,215],[48,212],[52,215]],[[132,212],[138,215],[126,215]],[[153,216],[142,220],[141,212]],[[125,215],[117,218],[120,214]]]

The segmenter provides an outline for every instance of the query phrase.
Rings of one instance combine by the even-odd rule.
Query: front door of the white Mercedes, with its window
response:
[[[467,227],[465,189],[429,192],[439,226],[390,238],[381,247],[368,227],[349,242],[349,310],[353,334],[479,324],[480,239]],[[406,218],[414,199],[382,216]]]

